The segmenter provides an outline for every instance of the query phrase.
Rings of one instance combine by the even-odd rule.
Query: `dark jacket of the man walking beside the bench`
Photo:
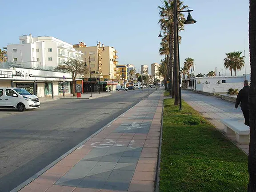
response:
[[[242,111],[248,111],[249,110],[249,90],[250,90],[250,86],[244,86],[244,88],[242,88],[240,90],[240,92],[237,95],[236,98],[236,108],[238,107],[238,105],[241,102],[241,109]]]

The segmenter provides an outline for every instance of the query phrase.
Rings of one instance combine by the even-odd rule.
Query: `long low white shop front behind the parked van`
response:
[[[0,77],[0,87],[19,87],[38,97],[53,97],[70,94],[71,74],[25,68],[0,69],[9,76]],[[12,75],[11,75],[12,73]],[[64,77],[64,78],[63,78]]]

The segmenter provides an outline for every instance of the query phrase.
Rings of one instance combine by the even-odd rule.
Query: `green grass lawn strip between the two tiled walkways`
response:
[[[246,192],[248,157],[198,112],[164,100],[160,192]]]

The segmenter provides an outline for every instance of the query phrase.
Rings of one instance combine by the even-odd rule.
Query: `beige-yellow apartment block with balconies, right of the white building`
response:
[[[100,71],[100,78],[104,80],[113,79],[117,81],[119,79],[118,68],[116,68],[118,56],[114,47],[104,46],[100,42],[96,46],[88,47],[84,42],[80,42],[79,44],[74,44],[73,48],[83,52],[82,59],[84,61],[89,61],[90,59],[92,76],[98,77]]]

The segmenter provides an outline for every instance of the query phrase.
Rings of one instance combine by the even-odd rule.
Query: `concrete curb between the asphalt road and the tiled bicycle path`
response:
[[[153,93],[153,92],[152,92]],[[150,94],[151,95],[151,94]],[[143,100],[141,100],[140,102],[142,102]],[[24,181],[22,184],[20,184],[19,186],[17,186],[16,188],[12,189],[12,191],[10,192],[18,192],[20,189],[24,188],[26,185],[30,184],[33,180],[35,180],[37,177],[39,177],[40,175],[42,175],[44,172],[46,172],[48,169],[52,168],[55,164],[57,164],[60,160],[63,160],[66,156],[68,156],[70,153],[72,153],[73,151],[75,151],[77,148],[79,148],[81,145],[83,145],[85,142],[87,142],[88,140],[90,140],[93,136],[96,136],[99,132],[101,132],[102,130],[104,130],[105,128],[108,127],[108,125],[112,124],[114,121],[116,121],[118,118],[120,118],[121,116],[124,116],[128,111],[132,110],[132,108],[135,108],[138,104],[132,106],[131,108],[129,108],[126,112],[122,113],[120,116],[116,117],[114,120],[110,121],[108,124],[106,124],[103,128],[100,128],[100,130],[98,130],[97,132],[93,133],[91,136],[89,136],[87,139],[83,140],[80,144],[77,144],[75,147],[73,147],[72,149],[70,149],[68,152],[66,152],[64,155],[60,156],[58,159],[56,159],[55,161],[53,161],[51,164],[47,165],[45,168],[43,168],[42,170],[40,170],[39,172],[37,172],[35,175],[33,175],[32,177],[30,177],[28,180]]]

